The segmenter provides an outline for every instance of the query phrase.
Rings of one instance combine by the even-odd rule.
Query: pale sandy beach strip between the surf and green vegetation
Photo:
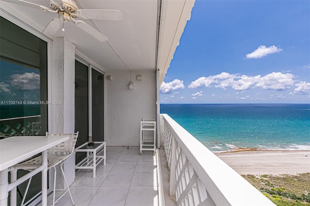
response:
[[[310,172],[310,150],[216,153],[240,175],[280,175]]]

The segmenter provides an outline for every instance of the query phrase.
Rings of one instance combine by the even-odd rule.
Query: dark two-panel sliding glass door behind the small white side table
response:
[[[81,146],[93,136],[104,140],[104,74],[76,60],[75,77],[75,131],[79,132],[77,145]],[[86,153],[76,154],[76,163]]]

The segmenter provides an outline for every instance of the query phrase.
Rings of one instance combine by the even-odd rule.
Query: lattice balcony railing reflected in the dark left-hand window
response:
[[[0,138],[41,134],[41,115],[0,119]]]

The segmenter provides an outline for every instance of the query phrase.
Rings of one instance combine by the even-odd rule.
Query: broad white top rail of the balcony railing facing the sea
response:
[[[274,206],[260,191],[203,146],[169,115],[161,115],[217,205]]]

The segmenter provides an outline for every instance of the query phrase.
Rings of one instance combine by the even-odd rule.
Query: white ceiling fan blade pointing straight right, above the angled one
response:
[[[85,19],[123,21],[123,15],[119,10],[78,9],[77,15]]]

